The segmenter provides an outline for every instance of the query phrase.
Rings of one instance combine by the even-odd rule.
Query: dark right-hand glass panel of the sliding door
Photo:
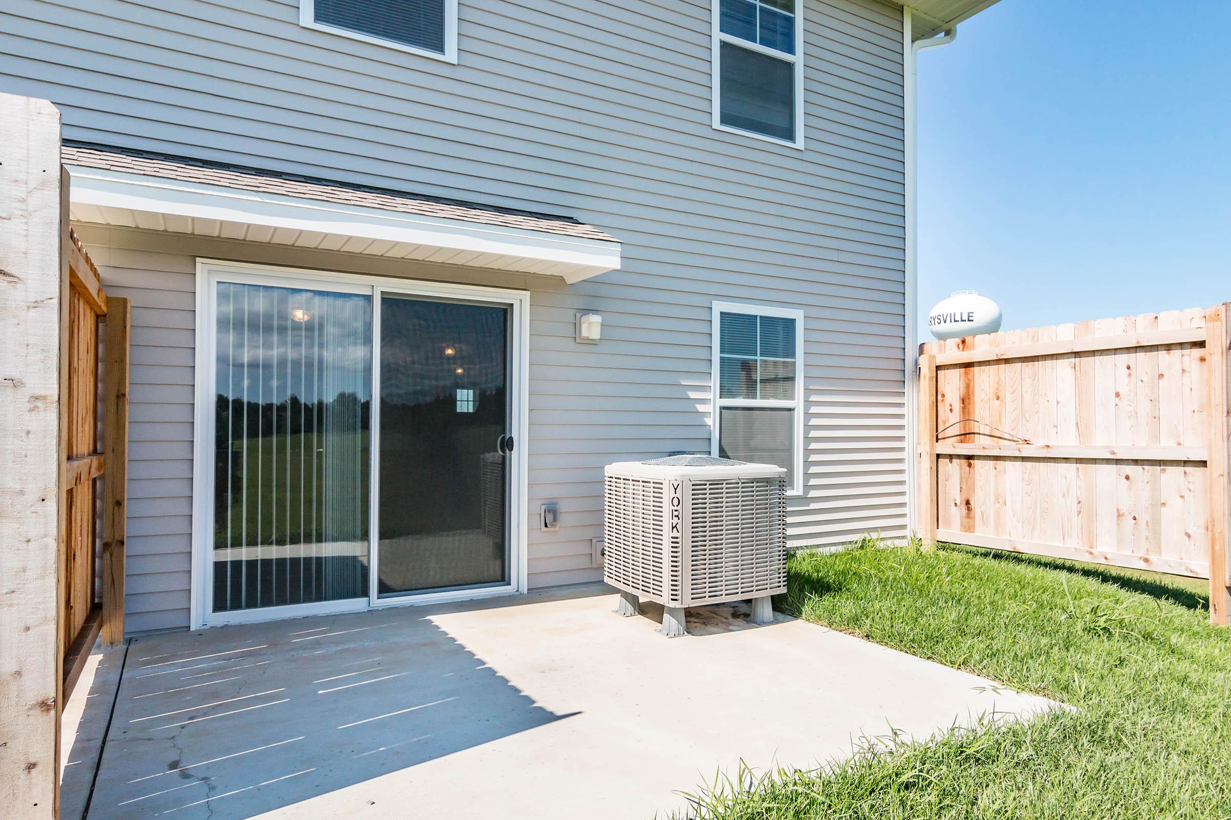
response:
[[[507,307],[382,296],[378,595],[508,583],[507,387]]]

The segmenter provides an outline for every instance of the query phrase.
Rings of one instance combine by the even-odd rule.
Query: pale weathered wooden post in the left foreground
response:
[[[59,811],[60,114],[0,93],[0,814]]]

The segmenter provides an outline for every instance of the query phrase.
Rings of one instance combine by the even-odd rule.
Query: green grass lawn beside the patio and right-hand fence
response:
[[[789,573],[776,609],[1076,708],[731,773],[693,792],[697,816],[1231,818],[1231,629],[1206,581],[965,547],[798,553]]]

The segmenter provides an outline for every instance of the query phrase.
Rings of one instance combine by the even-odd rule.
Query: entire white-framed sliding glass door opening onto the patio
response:
[[[229,266],[204,286],[194,623],[519,586],[523,296]]]

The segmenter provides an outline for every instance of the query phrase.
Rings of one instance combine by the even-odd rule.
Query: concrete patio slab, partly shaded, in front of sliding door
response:
[[[590,586],[133,641],[90,820],[651,818],[742,759],[814,767],[1050,702],[741,606]]]

